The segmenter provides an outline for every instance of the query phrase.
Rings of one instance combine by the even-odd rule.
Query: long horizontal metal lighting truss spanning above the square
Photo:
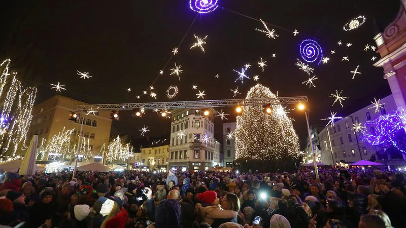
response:
[[[261,99],[229,99],[229,100],[197,100],[197,101],[174,101],[174,102],[150,102],[150,103],[121,103],[121,104],[87,104],[78,105],[77,111],[106,111],[106,110],[133,110],[138,108],[147,109],[181,109],[181,108],[209,108],[230,107],[265,104],[296,104],[307,103],[308,97],[276,97]]]

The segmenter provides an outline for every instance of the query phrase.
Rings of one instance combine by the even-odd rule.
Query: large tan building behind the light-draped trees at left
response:
[[[45,139],[49,141],[53,135],[57,135],[65,129],[75,129],[71,135],[71,141],[77,143],[80,135],[80,123],[82,121],[78,118],[77,122],[69,120],[71,111],[75,111],[77,105],[88,104],[78,101],[69,97],[55,95],[44,102],[35,105],[32,108],[32,123],[29,129],[27,138],[28,142],[34,134],[39,136],[39,144]],[[100,149],[103,144],[106,146],[109,143],[110,130],[112,120],[110,119],[110,111],[99,111],[92,113],[78,113],[81,118],[84,118],[82,136],[89,139],[88,148],[90,149],[94,160],[101,161]],[[77,147],[76,147],[77,148]],[[75,149],[76,149],[75,148]],[[52,154],[52,153],[50,153]],[[58,160],[60,158],[49,156],[45,154],[42,160]],[[69,159],[69,158],[67,158]],[[81,161],[83,158],[79,158]],[[93,162],[93,161],[90,161]]]

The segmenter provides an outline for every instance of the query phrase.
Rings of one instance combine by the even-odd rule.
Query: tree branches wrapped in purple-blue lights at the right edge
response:
[[[402,140],[404,141],[403,136],[406,127],[406,111],[403,108],[399,107],[392,113],[367,121],[364,126],[367,130],[363,130],[362,134],[359,134],[362,141],[375,146],[393,146],[401,153],[406,154],[405,146],[400,143]]]

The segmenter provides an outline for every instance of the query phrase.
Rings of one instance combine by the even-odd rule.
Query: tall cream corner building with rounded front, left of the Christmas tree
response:
[[[172,111],[170,168],[185,171],[207,170],[220,164],[221,145],[213,138],[213,112],[202,109]]]

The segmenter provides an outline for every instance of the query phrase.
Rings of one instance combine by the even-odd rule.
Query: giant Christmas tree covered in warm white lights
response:
[[[260,84],[252,87],[246,99],[276,97]],[[245,106],[237,117],[235,159],[249,169],[293,169],[299,159],[299,141],[282,105],[271,105],[270,115],[262,105]],[[261,170],[262,171],[262,170]]]

